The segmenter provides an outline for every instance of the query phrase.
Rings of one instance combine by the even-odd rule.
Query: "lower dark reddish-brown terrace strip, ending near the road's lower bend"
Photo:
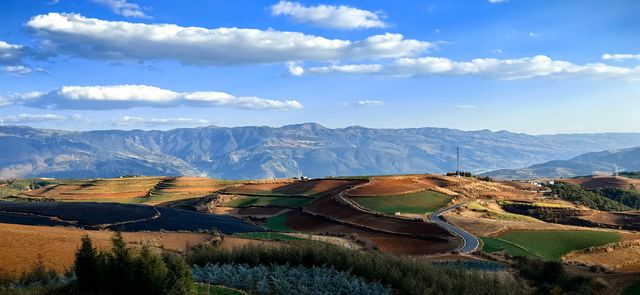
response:
[[[455,239],[445,242],[386,234],[315,217],[305,214],[301,210],[289,212],[285,225],[302,232],[355,234],[378,246],[382,252],[398,255],[430,255],[452,251],[458,246],[458,241]]]

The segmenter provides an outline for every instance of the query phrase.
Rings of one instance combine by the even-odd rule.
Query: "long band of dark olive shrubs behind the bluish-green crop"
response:
[[[246,264],[330,267],[350,271],[368,283],[380,282],[397,294],[520,294],[521,286],[508,277],[437,267],[408,257],[353,251],[314,242],[290,242],[282,247],[249,245],[233,250],[200,245],[187,253],[190,264]]]

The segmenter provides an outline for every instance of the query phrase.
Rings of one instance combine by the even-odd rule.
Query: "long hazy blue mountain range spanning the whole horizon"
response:
[[[224,178],[311,177],[527,167],[640,146],[638,133],[531,136],[442,128],[329,129],[308,123],[169,131],[71,132],[0,127],[0,178],[124,174]]]

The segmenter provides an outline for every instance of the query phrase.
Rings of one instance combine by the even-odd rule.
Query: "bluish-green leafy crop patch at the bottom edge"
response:
[[[382,284],[367,283],[348,271],[330,267],[247,264],[194,265],[196,281],[245,290],[251,294],[391,294]]]

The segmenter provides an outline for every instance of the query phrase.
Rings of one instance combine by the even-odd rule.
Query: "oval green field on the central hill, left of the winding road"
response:
[[[404,195],[355,197],[353,200],[360,206],[386,214],[396,212],[425,214],[446,206],[451,202],[452,197],[426,190]]]

